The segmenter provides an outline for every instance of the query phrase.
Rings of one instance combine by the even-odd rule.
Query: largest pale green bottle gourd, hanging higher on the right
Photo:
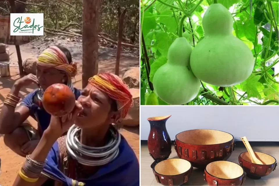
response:
[[[254,68],[248,46],[232,35],[231,13],[220,3],[212,4],[203,16],[205,37],[193,49],[190,66],[205,83],[220,87],[245,81]]]

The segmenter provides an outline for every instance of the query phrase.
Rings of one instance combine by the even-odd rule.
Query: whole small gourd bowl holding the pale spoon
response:
[[[276,159],[266,153],[254,152],[256,157],[263,162],[263,165],[252,163],[248,152],[243,152],[238,156],[240,166],[246,172],[246,176],[253,180],[258,180],[273,172],[277,166]]]

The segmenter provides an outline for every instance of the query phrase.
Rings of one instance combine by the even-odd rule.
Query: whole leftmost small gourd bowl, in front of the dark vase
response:
[[[192,175],[191,162],[180,158],[170,158],[155,165],[153,173],[161,185],[182,185]]]

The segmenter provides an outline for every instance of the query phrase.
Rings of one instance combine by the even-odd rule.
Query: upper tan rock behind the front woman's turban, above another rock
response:
[[[129,68],[123,75],[122,80],[129,88],[140,88],[140,67]]]

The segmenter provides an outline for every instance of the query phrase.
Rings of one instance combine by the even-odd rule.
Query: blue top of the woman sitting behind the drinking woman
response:
[[[35,113],[38,116],[38,124],[40,124],[41,128],[42,128],[42,132],[44,132],[44,130],[47,129],[47,127],[49,126],[49,122],[50,122],[50,118],[51,115],[49,113],[47,113],[43,108],[39,108],[37,105],[35,105],[34,103],[34,96],[36,95],[37,91],[39,91],[39,89],[33,90],[32,92],[30,92],[20,103],[20,105],[24,105],[26,107],[29,108],[30,110],[30,116],[33,117],[36,121],[37,118],[35,117]],[[78,99],[78,97],[81,95],[80,90],[74,88],[74,94],[76,96],[76,100]],[[32,106],[32,109],[31,109]],[[35,109],[34,109],[35,106]]]

